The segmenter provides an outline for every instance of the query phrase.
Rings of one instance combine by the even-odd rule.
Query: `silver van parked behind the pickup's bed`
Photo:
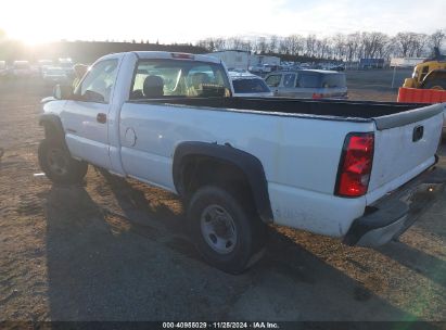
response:
[[[347,99],[344,73],[323,69],[273,72],[265,77],[276,97]]]

